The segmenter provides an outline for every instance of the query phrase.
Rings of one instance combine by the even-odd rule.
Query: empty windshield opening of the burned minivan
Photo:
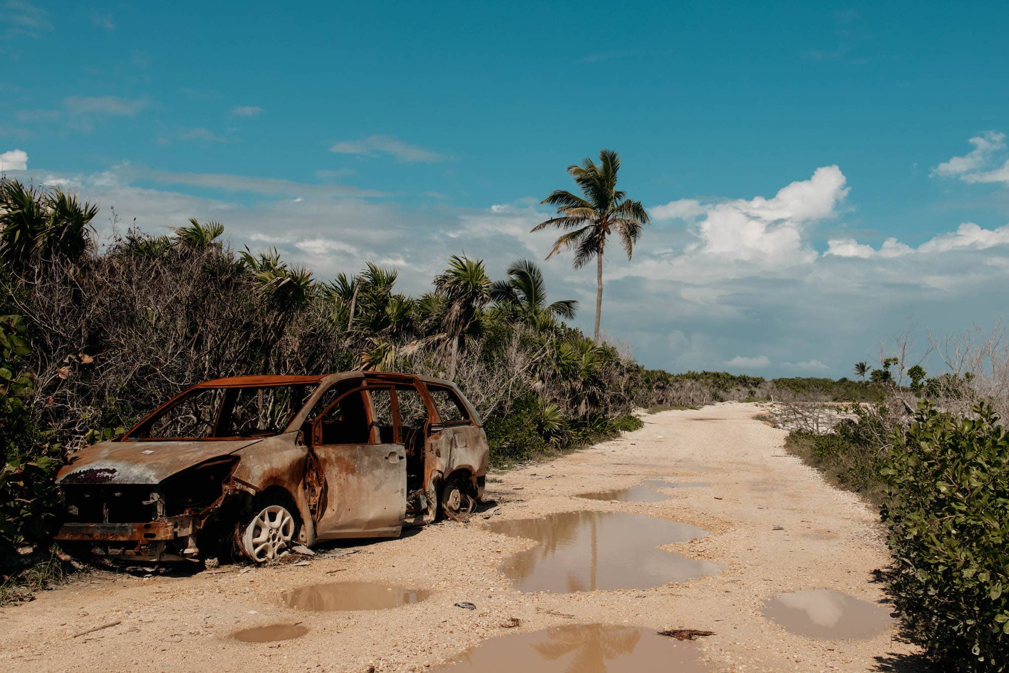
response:
[[[316,384],[197,388],[123,439],[224,440],[279,435],[316,388]]]

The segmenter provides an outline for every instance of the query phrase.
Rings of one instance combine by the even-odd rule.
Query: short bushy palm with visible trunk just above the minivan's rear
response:
[[[479,324],[480,311],[490,301],[490,279],[482,260],[453,255],[448,269],[435,277],[435,290],[445,297],[442,329],[448,340],[448,378],[455,378],[459,347]]]

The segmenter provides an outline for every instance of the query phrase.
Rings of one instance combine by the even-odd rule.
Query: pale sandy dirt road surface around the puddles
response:
[[[867,640],[816,640],[764,616],[764,601],[789,591],[827,588],[878,602],[873,571],[888,557],[876,513],[783,456],[785,434],[753,418],[761,411],[725,403],[646,416],[643,429],[612,442],[492,475],[486,498],[496,504],[468,523],[324,548],[306,565],[230,565],[175,577],[101,573],[42,592],[0,610],[0,670],[428,670],[486,639],[580,623],[714,632],[681,645],[700,670],[915,670],[901,663],[912,648],[892,627]],[[707,485],[665,489],[668,498],[652,502],[577,497],[656,477]],[[519,591],[502,564],[536,543],[487,524],[582,510],[699,526],[709,535],[662,549],[715,564],[717,572],[651,588]],[[282,601],[285,591],[337,581],[388,583],[430,597],[349,612]],[[454,605],[461,601],[475,609]],[[513,618],[519,626],[508,628]],[[231,638],[295,622],[308,630],[297,640]]]

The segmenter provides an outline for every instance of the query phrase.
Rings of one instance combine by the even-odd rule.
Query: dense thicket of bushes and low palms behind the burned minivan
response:
[[[323,283],[275,251],[235,252],[216,222],[171,235],[129,228],[99,245],[96,212],[0,178],[0,309],[24,315],[2,332],[8,550],[51,527],[61,447],[115,437],[206,379],[348,369],[452,378],[483,417],[495,464],[635,422],[623,417],[641,368],[566,325],[577,302],[549,302],[532,263],[495,283],[481,261],[451,257],[432,291],[410,296],[395,270],[373,264]]]

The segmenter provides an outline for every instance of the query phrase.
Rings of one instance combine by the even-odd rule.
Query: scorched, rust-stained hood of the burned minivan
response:
[[[156,484],[186,468],[261,442],[102,442],[83,449],[57,475],[58,484]]]

